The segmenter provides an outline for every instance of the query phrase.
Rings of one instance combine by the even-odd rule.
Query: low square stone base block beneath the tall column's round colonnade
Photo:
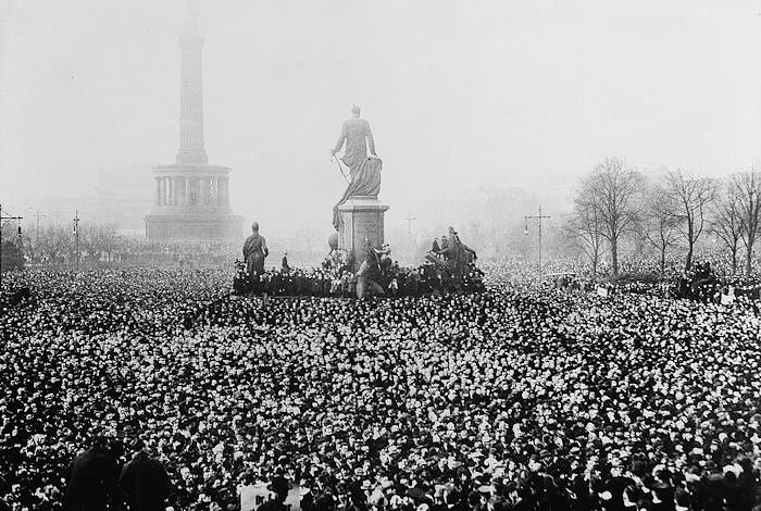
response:
[[[242,227],[244,217],[235,214],[146,216],[146,235],[150,241],[240,240]]]

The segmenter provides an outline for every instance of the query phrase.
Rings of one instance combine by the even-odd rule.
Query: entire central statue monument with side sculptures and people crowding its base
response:
[[[328,237],[330,251],[322,267],[304,274],[290,269],[284,258],[279,270],[266,271],[269,248],[254,222],[234,278],[237,295],[369,298],[483,290],[476,253],[460,240],[453,227],[441,237],[440,245],[434,242],[425,264],[401,269],[392,260],[384,234],[384,213],[389,207],[378,199],[383,161],[377,155],[370,122],[360,114],[360,107],[352,105],[352,116],[344,122],[330,150],[347,179],[347,188],[333,207],[336,233]],[[344,155],[336,157],[344,148]]]

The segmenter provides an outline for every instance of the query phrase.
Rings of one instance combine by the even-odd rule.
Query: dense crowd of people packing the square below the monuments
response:
[[[308,511],[757,506],[758,314],[483,267],[486,292],[396,300],[234,298],[222,269],[4,275],[0,509],[61,509],[103,439],[117,468],[159,460],[175,510],[283,477]]]

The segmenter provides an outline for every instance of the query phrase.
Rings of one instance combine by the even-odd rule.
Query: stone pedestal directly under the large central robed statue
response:
[[[373,196],[351,197],[338,207],[341,219],[338,248],[346,250],[347,257],[353,259],[354,271],[362,264],[367,241],[377,248],[383,245],[383,215],[386,211],[388,205],[382,204]]]

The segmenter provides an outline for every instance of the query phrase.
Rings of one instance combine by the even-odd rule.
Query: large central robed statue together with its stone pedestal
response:
[[[377,248],[384,244],[384,213],[388,205],[378,200],[383,161],[375,152],[370,123],[360,117],[359,107],[353,105],[351,113],[352,117],[344,122],[338,141],[330,151],[335,157],[346,144],[340,162],[349,167],[349,186],[333,208],[333,226],[338,230],[338,249],[346,251],[357,271],[367,244]]]

